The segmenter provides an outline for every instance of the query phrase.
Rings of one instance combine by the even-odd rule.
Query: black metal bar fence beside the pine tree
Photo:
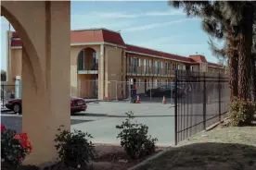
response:
[[[226,116],[230,90],[227,75],[175,71],[175,144],[206,129]]]

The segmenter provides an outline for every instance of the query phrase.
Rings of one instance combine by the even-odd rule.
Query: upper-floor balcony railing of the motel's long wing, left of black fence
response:
[[[127,74],[132,76],[173,76],[174,70],[169,68],[166,69],[165,67],[145,67],[145,66],[127,66]]]

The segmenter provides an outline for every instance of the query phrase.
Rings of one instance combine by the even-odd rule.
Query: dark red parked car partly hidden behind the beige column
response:
[[[12,110],[16,114],[21,114],[21,99],[13,99],[9,100],[6,103],[6,108]],[[76,98],[76,97],[70,97],[70,113],[74,114],[76,112],[86,111],[87,104],[85,103],[84,99],[82,98]]]

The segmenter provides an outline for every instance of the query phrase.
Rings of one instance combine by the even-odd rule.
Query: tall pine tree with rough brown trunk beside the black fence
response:
[[[215,53],[227,56],[230,68],[231,99],[233,96],[247,99],[251,76],[252,26],[256,18],[256,3],[171,1],[171,6],[182,7],[187,16],[202,18],[203,30],[211,37],[224,40],[223,49],[216,50],[213,45],[211,47]]]

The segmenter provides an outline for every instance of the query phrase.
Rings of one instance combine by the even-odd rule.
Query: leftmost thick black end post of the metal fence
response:
[[[174,76],[174,126],[175,126],[175,145],[178,144],[178,70],[175,69],[175,76]]]

